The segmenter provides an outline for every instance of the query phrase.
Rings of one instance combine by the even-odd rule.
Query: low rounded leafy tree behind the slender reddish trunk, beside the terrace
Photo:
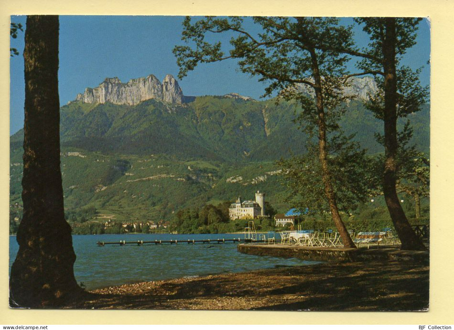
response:
[[[336,200],[341,211],[350,213],[359,203],[365,202],[373,187],[370,157],[360,149],[351,137],[336,135],[329,143],[328,163]],[[323,213],[329,210],[324,192],[320,161],[316,146],[309,143],[307,153],[290,159],[281,159],[284,184],[287,187],[286,202],[299,209]]]

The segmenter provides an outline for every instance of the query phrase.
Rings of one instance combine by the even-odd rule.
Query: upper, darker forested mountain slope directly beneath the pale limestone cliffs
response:
[[[350,102],[341,126],[371,154],[382,150],[374,133],[382,121]],[[276,160],[305,152],[306,134],[292,122],[293,103],[196,97],[183,105],[148,100],[137,106],[73,102],[62,107],[62,146],[103,153],[166,154],[202,160]],[[429,151],[429,107],[409,116],[413,143]],[[405,120],[400,120],[403,126]]]

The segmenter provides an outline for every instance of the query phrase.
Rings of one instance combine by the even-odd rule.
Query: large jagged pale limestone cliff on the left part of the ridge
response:
[[[163,83],[150,74],[148,77],[131,79],[123,83],[115,78],[105,78],[96,88],[86,88],[75,101],[136,105],[139,102],[157,99],[170,103],[183,103],[183,92],[178,82],[168,74]]]

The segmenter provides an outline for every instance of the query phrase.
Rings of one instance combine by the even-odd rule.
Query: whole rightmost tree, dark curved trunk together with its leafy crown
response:
[[[412,71],[401,64],[401,58],[416,40],[417,25],[421,19],[417,18],[357,18],[355,21],[369,34],[368,47],[359,53],[346,49],[346,53],[359,53],[362,58],[357,66],[363,73],[374,74],[379,87],[375,95],[371,95],[366,104],[374,115],[384,121],[384,136],[381,141],[385,147],[385,158],[380,171],[381,184],[385,201],[390,211],[391,219],[399,234],[403,249],[424,250],[425,247],[415,235],[402,209],[397,196],[402,155],[406,151],[405,140],[409,136],[408,125],[399,134],[397,119],[417,112],[427,102],[429,89],[421,87],[419,70]],[[407,157],[407,159],[409,159]],[[411,158],[410,158],[411,159]]]

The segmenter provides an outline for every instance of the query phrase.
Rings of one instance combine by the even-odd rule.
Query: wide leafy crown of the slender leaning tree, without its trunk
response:
[[[233,58],[238,60],[242,72],[269,82],[264,96],[275,91],[288,91],[289,97],[293,99],[303,96],[299,92],[295,93],[296,83],[314,86],[311,80],[313,63],[308,56],[310,48],[331,49],[338,47],[338,43],[345,47],[353,45],[351,29],[337,25],[339,20],[333,17],[253,17],[253,23],[260,27],[257,34],[247,31],[243,26],[244,21],[242,17],[206,17],[192,24],[191,17],[187,17],[183,22],[182,40],[190,45],[173,49],[180,67],[178,77],[186,76],[198,63]],[[228,54],[220,42],[206,41],[210,33],[230,33],[231,49]],[[336,50],[316,50],[316,53],[321,76],[326,79],[326,94],[338,102],[340,92],[333,84],[340,81],[334,77],[344,73],[343,64],[348,57]],[[329,102],[326,100],[327,104]],[[335,108],[331,107],[333,110]]]

